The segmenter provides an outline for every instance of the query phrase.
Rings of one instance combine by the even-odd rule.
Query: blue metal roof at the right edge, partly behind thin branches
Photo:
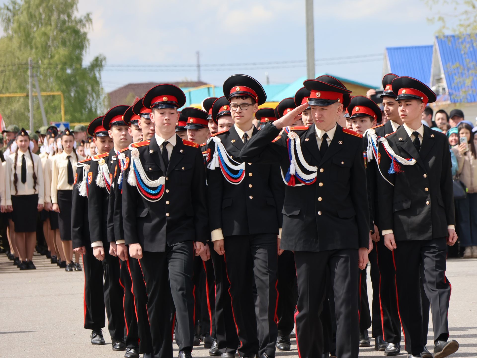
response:
[[[477,102],[475,40],[469,35],[436,36],[436,46],[446,78],[450,102]]]

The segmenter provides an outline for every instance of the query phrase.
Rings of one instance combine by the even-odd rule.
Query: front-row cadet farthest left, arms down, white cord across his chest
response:
[[[207,260],[204,160],[198,144],[175,134],[177,108],[185,103],[186,96],[173,84],[146,93],[143,105],[152,110],[156,134],[132,144],[122,186],[124,238],[144,274],[155,357],[172,356],[171,295],[179,357],[191,357],[194,252]]]

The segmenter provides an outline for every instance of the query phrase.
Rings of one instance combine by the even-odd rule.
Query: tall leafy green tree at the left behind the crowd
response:
[[[66,122],[89,122],[103,111],[101,71],[105,57],[83,65],[91,15],[79,16],[78,0],[10,0],[0,7],[0,93],[28,93],[28,58],[33,59],[41,92],[61,91]],[[36,88],[33,82],[33,92]],[[59,96],[43,96],[48,122],[61,121]],[[8,124],[29,127],[27,97],[0,98]],[[42,125],[34,99],[35,128]]]

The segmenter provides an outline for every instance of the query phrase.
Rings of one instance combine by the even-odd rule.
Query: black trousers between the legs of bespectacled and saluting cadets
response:
[[[284,251],[278,257],[278,305],[276,321],[279,336],[289,336],[295,326],[295,307],[298,299],[295,257]]]

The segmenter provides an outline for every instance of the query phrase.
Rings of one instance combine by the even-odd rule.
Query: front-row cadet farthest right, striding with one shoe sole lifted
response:
[[[379,230],[393,252],[397,305],[409,357],[432,357],[425,351],[420,304],[420,273],[431,303],[434,357],[454,353],[448,341],[447,312],[451,286],[446,277],[446,244],[457,240],[454,195],[447,137],[424,126],[421,114],[436,101],[434,92],[411,77],[392,82],[403,120],[379,147]]]

